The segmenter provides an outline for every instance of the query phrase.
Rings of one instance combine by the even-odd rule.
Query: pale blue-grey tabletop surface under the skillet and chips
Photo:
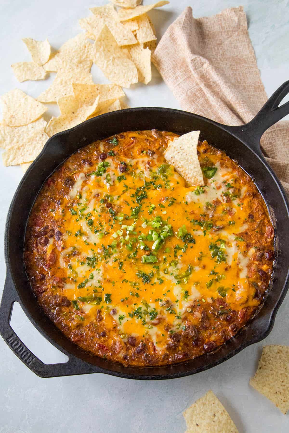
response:
[[[43,40],[55,47],[80,30],[78,18],[88,7],[102,0],[1,0],[0,94],[14,87],[38,96],[48,81],[19,84],[10,65],[28,61],[23,37]],[[144,0],[145,4],[149,1]],[[261,77],[268,94],[289,78],[289,2],[287,0],[244,0],[249,33],[257,55]],[[172,0],[169,6],[150,13],[160,37],[185,6],[192,5],[194,16],[220,12],[239,6],[238,0],[190,2]],[[93,69],[95,82],[106,82]],[[51,74],[52,76],[54,74]],[[148,86],[127,90],[131,107],[163,106],[180,108],[157,72]],[[287,98],[288,99],[288,98]],[[57,113],[55,108],[50,113]],[[0,239],[3,245],[6,213],[22,176],[19,167],[0,165]],[[5,279],[3,248],[0,250],[0,288]],[[2,290],[2,289],[1,289]],[[231,414],[240,433],[288,432],[289,415],[284,416],[265,397],[249,386],[264,344],[289,345],[289,297],[283,302],[273,331],[263,341],[250,346],[223,364],[198,375],[170,381],[130,381],[108,375],[41,379],[20,362],[0,339],[0,432],[184,432],[182,411],[212,389]],[[63,362],[65,356],[50,345],[32,326],[18,304],[12,324],[29,349],[46,363]]]

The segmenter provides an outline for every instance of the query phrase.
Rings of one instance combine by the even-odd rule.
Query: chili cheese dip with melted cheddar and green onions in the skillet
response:
[[[45,182],[25,264],[52,322],[82,349],[124,365],[211,352],[260,305],[274,229],[252,179],[198,142],[204,185],[163,152],[172,132],[124,132],[85,146]]]

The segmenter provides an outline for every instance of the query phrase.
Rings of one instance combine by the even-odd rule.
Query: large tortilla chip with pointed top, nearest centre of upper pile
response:
[[[113,83],[122,87],[137,83],[136,66],[130,60],[128,50],[117,45],[106,25],[94,43],[93,61]]]

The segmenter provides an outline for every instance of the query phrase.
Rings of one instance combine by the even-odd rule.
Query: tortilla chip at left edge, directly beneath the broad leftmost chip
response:
[[[21,143],[23,137],[29,141],[36,132],[44,131],[45,126],[46,121],[43,117],[40,117],[35,120],[35,122],[28,123],[28,125],[24,126],[11,127],[0,123],[0,147],[2,149],[9,149],[16,144]]]

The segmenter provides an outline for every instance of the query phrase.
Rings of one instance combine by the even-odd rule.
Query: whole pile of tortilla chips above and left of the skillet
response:
[[[114,8],[120,6],[118,11]],[[111,0],[91,8],[91,15],[79,20],[85,33],[53,51],[48,39],[23,39],[32,61],[12,65],[19,82],[44,80],[56,72],[52,85],[33,99],[19,89],[0,99],[0,147],[4,165],[20,164],[24,171],[43,149],[49,137],[84,120],[129,108],[122,87],[152,78],[151,53],[156,48],[155,29],[147,13],[164,6],[159,1],[143,6],[142,0]],[[101,69],[111,84],[95,84],[92,64]],[[60,115],[49,122],[43,118],[45,103],[57,103]],[[47,114],[46,114],[47,118]]]

